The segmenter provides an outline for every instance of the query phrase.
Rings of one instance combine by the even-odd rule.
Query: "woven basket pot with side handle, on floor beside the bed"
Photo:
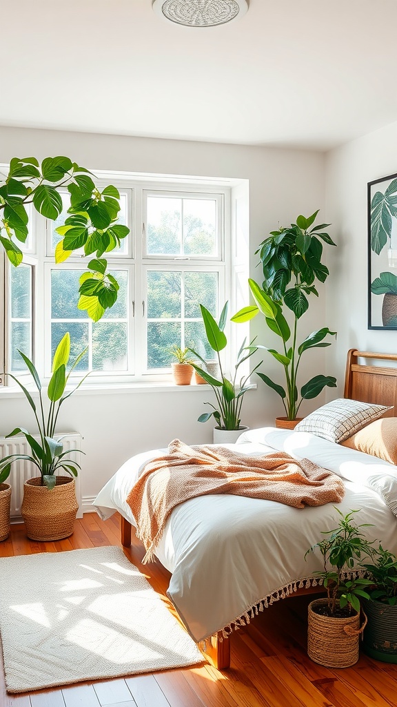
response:
[[[358,644],[365,624],[360,628],[360,614],[346,619],[316,614],[316,607],[327,604],[326,599],[310,602],[308,609],[307,655],[326,667],[349,667],[358,660]]]

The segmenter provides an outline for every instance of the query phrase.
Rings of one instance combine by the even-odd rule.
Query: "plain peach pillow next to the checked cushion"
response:
[[[397,464],[397,417],[375,420],[340,444]]]

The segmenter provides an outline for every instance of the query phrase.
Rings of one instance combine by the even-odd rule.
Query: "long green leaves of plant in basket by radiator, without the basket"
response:
[[[54,489],[56,484],[55,474],[60,469],[64,472],[70,474],[72,477],[78,475],[77,469],[81,469],[80,464],[69,459],[68,455],[71,452],[77,452],[80,450],[68,450],[64,452],[64,445],[62,443],[62,438],[58,437],[55,433],[55,428],[57,426],[59,410],[61,405],[66,399],[68,399],[78,387],[87,375],[69,392],[65,392],[66,384],[69,379],[69,375],[73,368],[76,368],[81,358],[83,358],[87,349],[81,352],[76,358],[76,360],[71,363],[69,370],[67,370],[69,364],[70,356],[70,335],[66,332],[64,337],[59,341],[57,349],[54,353],[54,358],[52,361],[52,377],[49,380],[49,385],[47,388],[47,397],[49,405],[47,405],[47,413],[45,413],[45,404],[43,401],[43,389],[42,383],[39,376],[37,375],[37,370],[33,365],[32,361],[25,356],[22,351],[18,350],[20,356],[22,356],[23,361],[25,361],[26,366],[32,375],[35,382],[37,390],[39,392],[39,404],[36,405],[35,401],[30,395],[30,392],[25,388],[24,385],[11,373],[8,375],[13,378],[13,380],[18,383],[20,389],[23,391],[25,398],[28,400],[33,413],[35,414],[35,419],[37,423],[37,431],[30,434],[28,430],[22,427],[16,427],[12,432],[6,435],[7,438],[15,437],[16,435],[23,435],[25,440],[30,446],[31,455],[25,454],[11,454],[0,460],[0,483],[3,484],[11,472],[11,464],[18,460],[28,460],[31,462],[33,467],[37,467],[40,472],[41,485],[47,486],[47,489]],[[38,439],[37,439],[38,437]]]

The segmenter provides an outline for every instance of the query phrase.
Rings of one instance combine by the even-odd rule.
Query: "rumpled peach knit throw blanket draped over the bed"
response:
[[[146,548],[143,562],[153,558],[173,508],[189,498],[232,493],[304,508],[338,503],[345,493],[336,474],[284,452],[251,457],[226,447],[189,447],[180,440],[173,440],[168,452],[143,467],[126,499]]]

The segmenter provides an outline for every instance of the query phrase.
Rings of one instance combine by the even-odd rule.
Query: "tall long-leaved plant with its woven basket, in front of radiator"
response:
[[[52,377],[47,388],[47,410],[43,399],[43,387],[32,361],[18,351],[25,361],[39,393],[39,404],[35,403],[27,388],[11,373],[28,400],[34,415],[37,429],[33,434],[21,427],[16,427],[7,437],[23,435],[30,446],[31,455],[13,454],[0,460],[0,479],[8,475],[11,464],[18,460],[28,460],[32,472],[40,476],[28,479],[24,484],[21,513],[25,522],[26,534],[32,540],[59,540],[73,533],[74,521],[78,510],[74,477],[80,464],[71,460],[64,452],[61,438],[56,434],[59,410],[64,401],[81,385],[84,378],[71,391],[66,392],[66,384],[73,368],[76,368],[85,351],[76,358],[69,370],[70,336],[66,333],[59,342],[52,361]],[[69,476],[59,475],[63,471]]]

